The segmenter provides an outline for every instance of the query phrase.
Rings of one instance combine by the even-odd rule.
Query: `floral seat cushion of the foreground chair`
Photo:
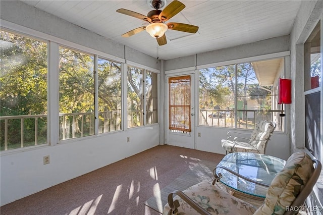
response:
[[[226,192],[221,185],[221,183],[212,185],[208,181],[202,181],[183,192],[210,214],[253,214],[256,211],[256,207]],[[173,199],[180,203],[179,215],[197,214],[196,210],[179,196]],[[166,204],[164,214],[168,214],[170,209],[169,204]]]

